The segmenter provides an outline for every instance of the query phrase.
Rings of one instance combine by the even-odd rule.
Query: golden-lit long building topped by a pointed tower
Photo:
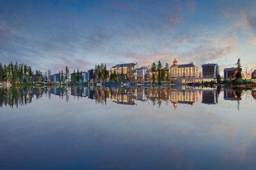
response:
[[[171,79],[198,77],[198,67],[194,62],[189,62],[188,64],[177,63],[178,61],[174,59],[173,65],[169,67],[169,75]]]

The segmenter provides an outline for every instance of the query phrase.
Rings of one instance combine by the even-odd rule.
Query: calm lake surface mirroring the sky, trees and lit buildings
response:
[[[256,89],[0,88],[0,169],[255,169]]]

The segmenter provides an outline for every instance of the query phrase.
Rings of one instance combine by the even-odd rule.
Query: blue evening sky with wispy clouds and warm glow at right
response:
[[[256,69],[256,1],[0,1],[0,62],[43,73],[106,63]]]

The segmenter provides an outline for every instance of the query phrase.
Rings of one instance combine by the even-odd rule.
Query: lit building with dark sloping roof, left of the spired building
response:
[[[132,81],[135,79],[135,71],[138,68],[137,63],[125,63],[117,64],[110,69],[110,72],[113,74],[116,72],[118,80],[129,80]]]

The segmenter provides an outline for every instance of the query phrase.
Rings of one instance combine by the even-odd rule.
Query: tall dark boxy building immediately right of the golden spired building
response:
[[[217,78],[217,76],[220,74],[220,67],[218,64],[203,64],[202,70],[202,78]]]

